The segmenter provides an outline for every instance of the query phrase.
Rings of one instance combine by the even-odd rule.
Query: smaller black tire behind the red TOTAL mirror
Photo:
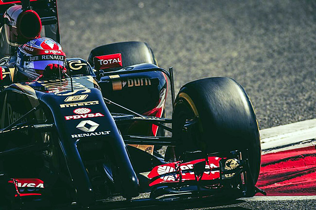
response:
[[[153,50],[144,42],[119,42],[94,48],[90,52],[88,62],[94,66],[93,57],[115,53],[122,54],[123,66],[110,68],[111,71],[142,63],[158,65]]]

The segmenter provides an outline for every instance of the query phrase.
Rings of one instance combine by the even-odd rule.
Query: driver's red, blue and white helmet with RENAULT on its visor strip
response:
[[[36,38],[18,47],[17,72],[29,81],[64,77],[65,66],[66,55],[51,38]]]

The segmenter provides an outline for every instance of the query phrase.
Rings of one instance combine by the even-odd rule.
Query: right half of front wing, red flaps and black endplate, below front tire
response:
[[[243,157],[243,158],[242,158]],[[254,186],[247,150],[213,153],[204,159],[158,165],[148,174],[151,198],[179,199],[227,195],[243,197],[258,192]]]

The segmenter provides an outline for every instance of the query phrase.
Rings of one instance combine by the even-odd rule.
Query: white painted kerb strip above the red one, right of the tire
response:
[[[260,135],[263,151],[286,145],[304,143],[307,140],[316,138],[316,119],[263,129],[260,130]],[[311,142],[310,145],[316,145],[316,141]],[[298,147],[302,147],[302,145],[294,148]],[[280,151],[280,149],[278,150]]]

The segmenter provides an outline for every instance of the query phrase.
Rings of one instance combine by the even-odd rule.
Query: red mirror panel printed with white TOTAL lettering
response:
[[[122,67],[122,55],[121,53],[96,56],[93,58],[95,69],[105,69],[113,67]]]

